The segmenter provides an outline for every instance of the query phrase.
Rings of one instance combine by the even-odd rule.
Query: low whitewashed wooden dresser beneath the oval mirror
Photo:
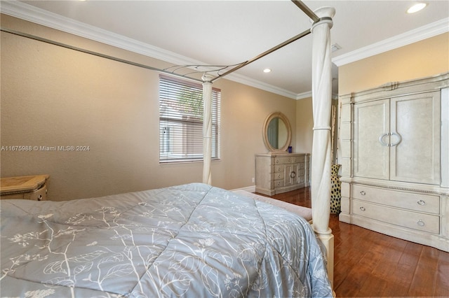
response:
[[[309,185],[309,154],[255,155],[255,191],[272,196]]]

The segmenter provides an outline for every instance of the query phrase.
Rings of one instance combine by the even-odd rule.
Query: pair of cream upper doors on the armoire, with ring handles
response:
[[[354,105],[354,176],[440,184],[440,92]]]

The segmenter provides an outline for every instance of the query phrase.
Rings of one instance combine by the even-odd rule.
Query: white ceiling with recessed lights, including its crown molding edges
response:
[[[427,0],[427,8],[406,14],[415,2],[304,1],[311,10],[336,10],[331,43],[341,49],[332,54],[333,92],[337,66],[448,31],[449,1]],[[1,1],[1,12],[105,43],[116,39],[123,48],[134,43],[145,55],[175,64],[244,62],[311,26],[288,0]],[[311,34],[305,36],[227,78],[295,99],[308,97],[311,40]],[[265,68],[272,72],[263,73]]]

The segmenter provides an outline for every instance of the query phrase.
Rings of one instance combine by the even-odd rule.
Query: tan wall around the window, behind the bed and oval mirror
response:
[[[8,15],[1,15],[1,26],[166,66]],[[48,197],[55,201],[201,182],[201,162],[159,164],[158,83],[156,71],[1,32],[0,145],[39,147],[30,152],[2,150],[1,177],[48,173]],[[297,137],[294,99],[230,80],[218,80],[214,87],[222,90],[222,159],[211,166],[214,186],[254,185],[254,155],[267,152],[262,125],[269,113],[286,114],[293,127],[292,143],[307,143],[297,139],[302,134]],[[41,146],[89,150],[45,151]]]

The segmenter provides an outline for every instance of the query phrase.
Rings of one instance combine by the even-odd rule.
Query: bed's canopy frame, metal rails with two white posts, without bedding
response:
[[[262,52],[253,59],[249,59],[239,64],[227,66],[210,65],[182,65],[170,66],[166,69],[157,69],[145,64],[139,64],[128,60],[104,55],[83,48],[76,48],[65,43],[58,43],[39,36],[33,36],[22,32],[14,31],[2,27],[1,31],[32,38],[37,41],[51,43],[63,48],[69,48],[90,55],[112,59],[133,66],[168,73],[173,76],[196,80],[203,85],[203,183],[211,185],[212,178],[210,172],[211,148],[212,148],[212,118],[210,116],[210,104],[212,97],[212,85],[215,80],[227,76],[243,66],[246,66],[257,59],[283,48],[283,46],[293,43],[298,39],[312,34],[312,106],[314,118],[314,134],[312,143],[311,160],[311,209],[313,218],[313,228],[319,239],[326,246],[328,258],[328,277],[333,285],[333,255],[334,244],[332,230],[329,228],[330,218],[330,166],[331,166],[331,138],[330,138],[330,110],[332,97],[332,76],[330,59],[330,29],[333,26],[332,17],[335,9],[331,7],[310,10],[302,1],[291,0],[300,10],[311,19],[311,28],[296,36],[276,45],[275,47]],[[184,73],[180,73],[183,71]],[[215,73],[215,76],[213,75]],[[201,76],[202,74],[202,76]],[[201,76],[201,78],[198,78]]]

